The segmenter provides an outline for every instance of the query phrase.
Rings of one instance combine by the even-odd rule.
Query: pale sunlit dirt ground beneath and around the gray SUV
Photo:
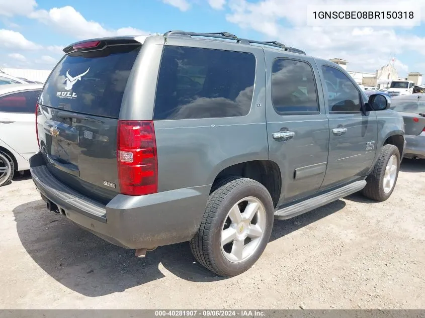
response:
[[[0,188],[2,308],[423,308],[425,161],[405,160],[386,202],[355,194],[275,221],[234,278],[187,244],[134,257],[49,213],[28,174]]]

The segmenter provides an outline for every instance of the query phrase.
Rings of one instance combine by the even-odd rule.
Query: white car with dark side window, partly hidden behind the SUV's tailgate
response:
[[[1,76],[1,75],[0,75]],[[35,109],[42,84],[0,85],[0,186],[30,168],[38,151]]]

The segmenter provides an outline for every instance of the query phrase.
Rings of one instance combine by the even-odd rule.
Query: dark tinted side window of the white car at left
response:
[[[25,91],[0,97],[0,112],[34,113],[39,90]]]

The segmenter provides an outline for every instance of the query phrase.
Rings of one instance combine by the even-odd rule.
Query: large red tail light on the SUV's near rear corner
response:
[[[118,179],[121,193],[144,195],[158,190],[153,121],[118,121]]]

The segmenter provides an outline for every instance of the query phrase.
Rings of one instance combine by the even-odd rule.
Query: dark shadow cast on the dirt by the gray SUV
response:
[[[276,220],[270,241],[344,206],[344,201],[337,200],[291,220]],[[159,247],[139,259],[134,250],[109,244],[65,217],[48,212],[43,200],[21,204],[13,212],[18,236],[32,259],[55,280],[89,297],[122,292],[160,279],[166,272],[196,282],[225,279],[197,264],[187,243]]]

